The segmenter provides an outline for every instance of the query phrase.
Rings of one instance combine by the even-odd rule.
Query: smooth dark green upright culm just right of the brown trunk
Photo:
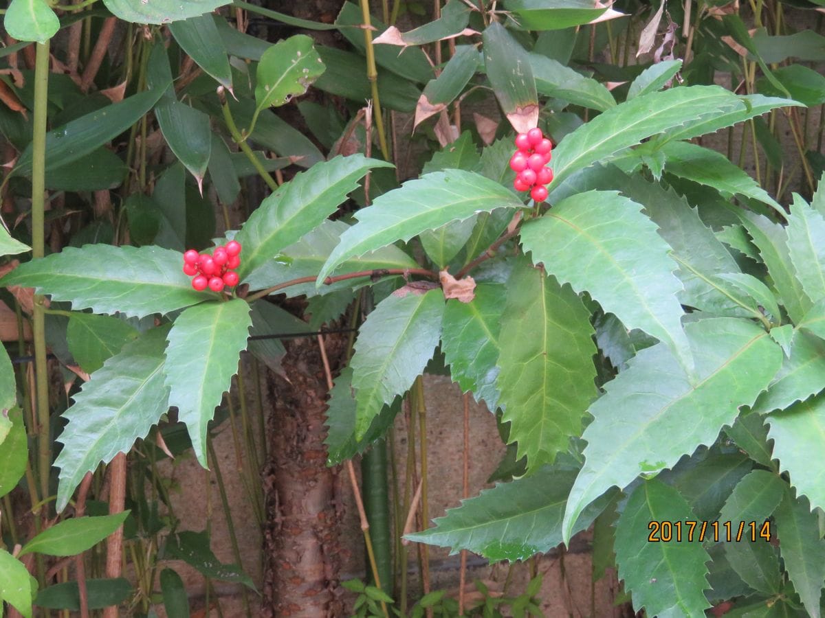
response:
[[[393,538],[390,532],[392,517],[389,514],[387,466],[387,441],[382,438],[361,458],[361,486],[381,589],[392,596]]]

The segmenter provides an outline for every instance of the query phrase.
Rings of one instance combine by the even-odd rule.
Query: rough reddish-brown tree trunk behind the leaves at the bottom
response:
[[[342,344],[327,345],[333,367]],[[323,445],[327,383],[313,338],[287,344],[285,377],[267,380],[274,402],[264,470],[267,526],[262,616],[342,616],[336,592],[342,512]]]

